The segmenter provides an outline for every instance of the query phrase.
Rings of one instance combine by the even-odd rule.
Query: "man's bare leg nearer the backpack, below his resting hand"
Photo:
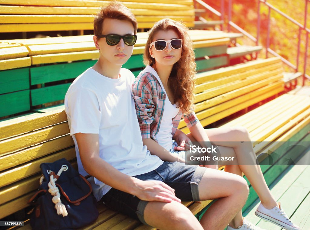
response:
[[[144,220],[161,230],[203,230],[193,213],[186,206],[175,201],[148,202],[144,210]]]

